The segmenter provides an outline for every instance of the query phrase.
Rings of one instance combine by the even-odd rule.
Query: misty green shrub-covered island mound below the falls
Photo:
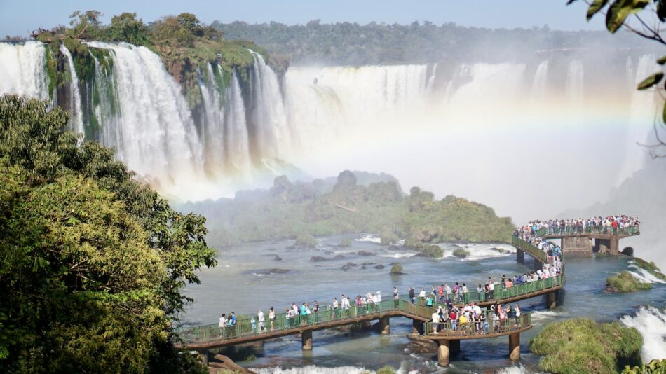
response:
[[[387,243],[506,242],[514,228],[510,218],[477,202],[435,200],[418,187],[405,195],[393,176],[350,171],[334,183],[292,183],[280,176],[269,190],[238,191],[233,199],[179,209],[206,216],[208,241],[215,246],[360,232],[378,233]]]

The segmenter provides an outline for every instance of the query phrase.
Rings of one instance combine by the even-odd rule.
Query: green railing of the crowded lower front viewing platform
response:
[[[486,314],[489,316],[489,314]],[[519,331],[532,324],[530,313],[521,313],[520,317],[510,317],[505,321],[493,321],[486,319],[484,322],[475,323],[475,321],[468,321],[466,324],[456,322],[440,322],[434,324],[433,321],[426,322],[425,331],[423,335],[427,336],[465,336],[472,335],[492,335],[500,333],[510,333],[511,331]]]

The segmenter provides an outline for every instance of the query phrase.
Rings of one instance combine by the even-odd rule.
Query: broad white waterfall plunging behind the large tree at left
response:
[[[104,145],[116,147],[118,158],[167,194],[198,191],[203,181],[203,146],[180,86],[160,57],[148,48],[126,43],[89,42],[110,50],[118,113],[103,124]],[[110,126],[109,126],[110,125]]]

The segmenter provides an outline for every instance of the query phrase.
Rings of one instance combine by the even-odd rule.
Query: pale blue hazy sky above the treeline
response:
[[[0,0],[0,36],[26,35],[39,27],[67,25],[73,11],[95,9],[104,13],[104,22],[112,15],[135,12],[145,22],[163,15],[194,13],[210,23],[277,21],[287,24],[306,23],[319,18],[322,22],[410,23],[429,20],[437,25],[456,22],[463,26],[490,28],[541,27],[551,29],[602,29],[602,19],[585,22],[585,4],[565,6],[565,0],[93,0],[43,1]]]

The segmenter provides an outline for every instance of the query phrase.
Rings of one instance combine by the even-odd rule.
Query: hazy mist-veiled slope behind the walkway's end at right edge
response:
[[[634,247],[634,254],[654,261],[660,268],[666,266],[663,235],[666,222],[666,160],[650,160],[646,167],[635,172],[618,188],[613,188],[609,199],[583,209],[562,212],[562,217],[587,217],[604,214],[628,214],[641,221],[641,235],[620,242],[620,246]]]

